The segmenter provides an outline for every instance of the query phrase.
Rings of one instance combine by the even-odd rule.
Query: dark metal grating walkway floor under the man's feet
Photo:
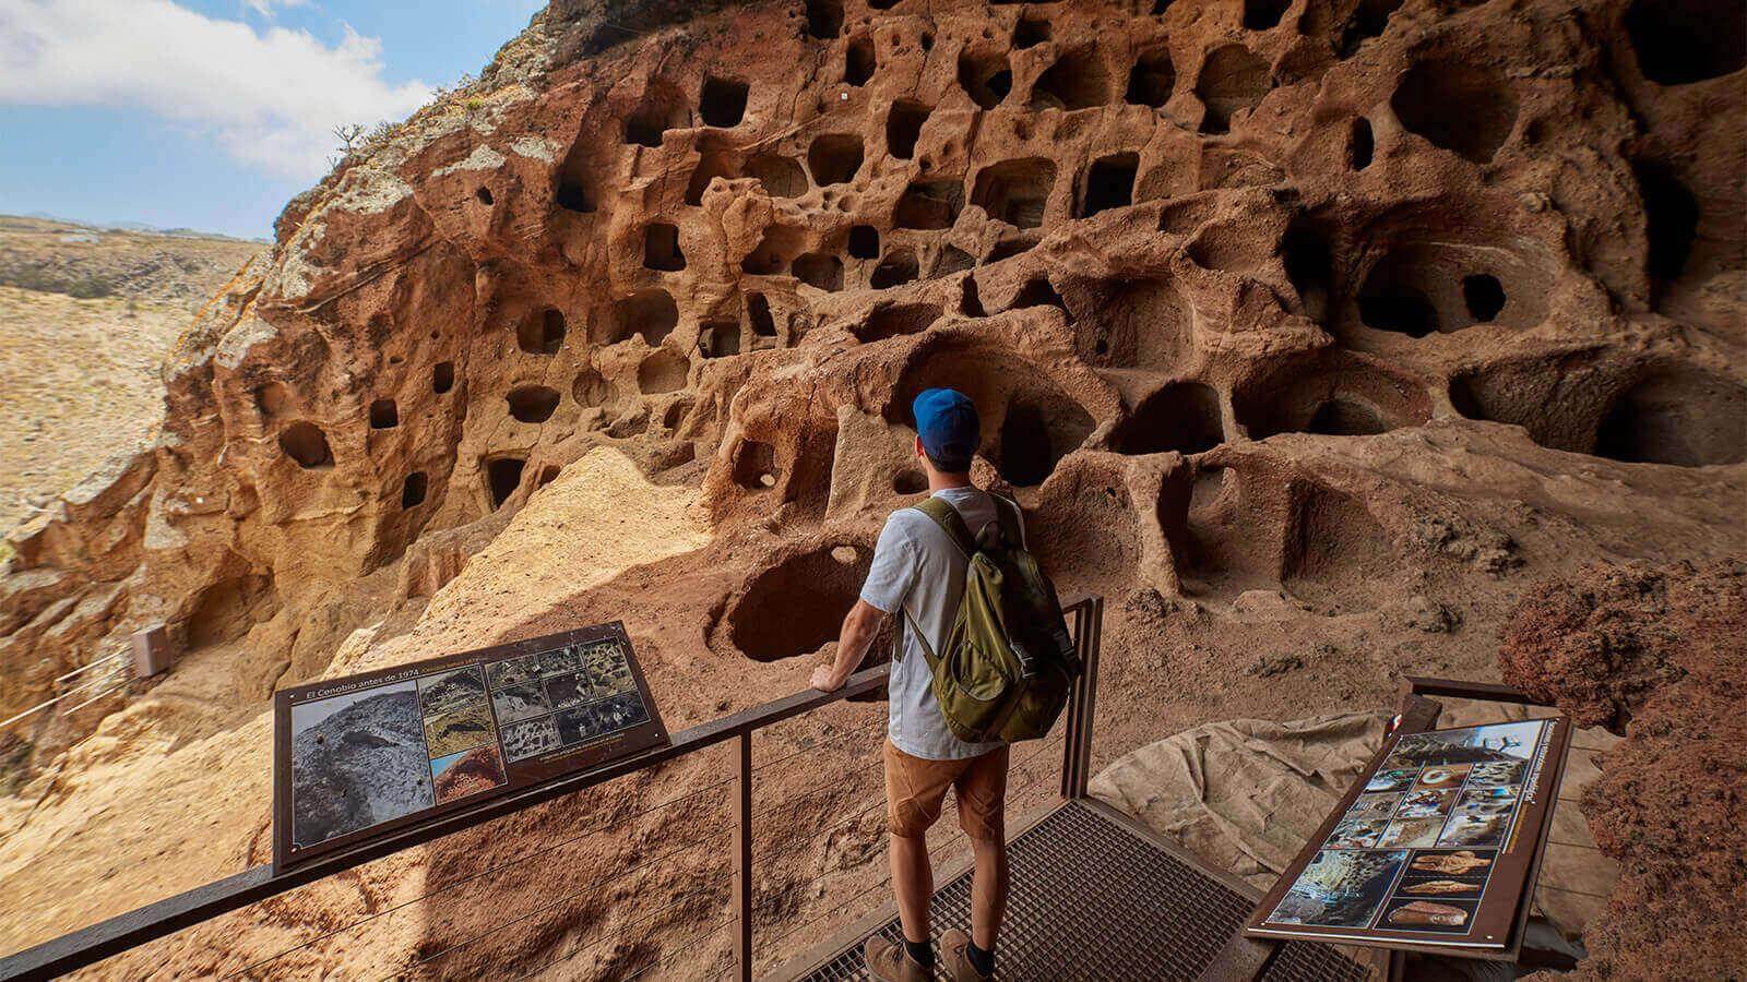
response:
[[[1080,802],[1067,802],[1008,846],[1012,895],[999,979],[1195,979],[1254,902]],[[935,942],[970,930],[971,874],[935,893]],[[896,917],[879,928],[896,940]],[[1331,947],[1288,944],[1265,979],[1361,982],[1366,972]],[[870,979],[861,940],[809,980]],[[945,979],[945,975],[940,975]]]

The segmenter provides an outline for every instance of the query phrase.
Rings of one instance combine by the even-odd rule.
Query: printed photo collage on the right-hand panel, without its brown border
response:
[[[1401,737],[1268,923],[1466,935],[1544,727]]]

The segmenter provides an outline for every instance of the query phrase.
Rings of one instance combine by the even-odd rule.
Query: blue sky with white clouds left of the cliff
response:
[[[271,238],[543,0],[0,0],[0,213]]]

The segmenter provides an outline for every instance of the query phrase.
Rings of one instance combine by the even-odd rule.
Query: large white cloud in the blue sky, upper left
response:
[[[383,80],[381,52],[351,28],[330,47],[171,0],[0,0],[0,103],[140,108],[295,180],[327,171],[335,126],[397,121],[430,98]]]

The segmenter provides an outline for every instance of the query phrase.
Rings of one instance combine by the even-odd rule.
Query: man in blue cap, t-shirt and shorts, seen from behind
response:
[[[971,484],[971,454],[982,442],[977,407],[949,388],[915,397],[915,456],[928,470],[928,491],[945,498],[977,535],[996,521],[996,508],[1017,505]],[[1015,515],[1017,517],[1017,515]],[[957,790],[959,825],[971,840],[977,875],[971,882],[971,937],[952,930],[942,938],[947,973],[956,982],[994,975],[994,945],[1006,910],[1006,764],[1005,743],[964,743],[952,736],[933,692],[933,674],[917,631],[940,650],[964,592],[970,557],[914,508],[886,519],[861,598],[844,619],[837,657],[812,673],[812,687],[842,688],[861,664],[880,620],[901,613],[901,641],[891,666],[891,711],[886,741],[886,826],[891,832],[891,882],[898,895],[903,944],[868,940],[868,970],[879,979],[933,979],[928,902],[935,872],[928,861],[928,828],[940,818],[947,788]]]

